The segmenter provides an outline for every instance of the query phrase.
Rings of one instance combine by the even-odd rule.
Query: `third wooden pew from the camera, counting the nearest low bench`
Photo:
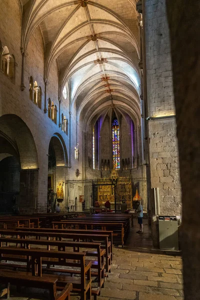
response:
[[[67,247],[73,247],[74,252],[85,252],[88,256],[97,257],[97,260],[91,260],[91,268],[97,269],[97,272],[91,272],[91,274],[97,276],[99,290],[101,286],[104,284],[104,250],[100,248],[100,243],[96,242],[76,242],[76,241],[60,241],[60,240],[44,240],[44,239],[24,239],[24,238],[11,238],[11,237],[0,237],[0,247],[3,246],[3,242],[5,242],[6,246],[10,243],[16,244],[16,246],[20,245],[25,249],[30,249],[31,245],[44,245],[47,250],[50,250],[50,247],[57,247],[57,251],[67,251]],[[95,251],[83,251],[80,248],[91,248],[95,249]],[[33,248],[35,249],[35,248]],[[60,270],[56,270],[60,271]],[[62,271],[62,270],[61,270]],[[77,270],[68,270],[67,272],[71,274],[80,274],[80,271]]]

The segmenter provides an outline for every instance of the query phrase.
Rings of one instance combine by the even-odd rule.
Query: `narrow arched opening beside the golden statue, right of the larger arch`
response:
[[[67,176],[68,158],[65,143],[60,134],[55,133],[48,147],[48,201],[47,207],[53,212],[56,201],[60,202],[62,211],[66,207],[65,181]],[[61,184],[63,197],[57,199],[57,186]]]

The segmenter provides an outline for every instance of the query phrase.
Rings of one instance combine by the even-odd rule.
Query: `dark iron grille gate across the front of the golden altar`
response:
[[[70,211],[89,211],[94,202],[98,201],[100,206],[104,206],[106,200],[110,201],[111,210],[121,212],[121,203],[126,203],[127,209],[134,212],[133,197],[138,191],[143,212],[147,212],[147,191],[146,178],[117,179],[82,179],[67,180],[67,206]]]

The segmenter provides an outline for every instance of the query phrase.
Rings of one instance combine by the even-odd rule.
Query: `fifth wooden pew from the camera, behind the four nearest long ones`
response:
[[[124,228],[123,223],[116,222],[101,222],[101,221],[79,221],[79,220],[67,220],[60,222],[52,222],[53,228],[60,229],[97,229],[97,230],[112,230],[113,240],[116,243],[124,244]]]

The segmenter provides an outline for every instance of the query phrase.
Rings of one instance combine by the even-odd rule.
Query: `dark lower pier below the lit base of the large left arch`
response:
[[[19,213],[33,213],[37,209],[38,169],[20,171]]]

